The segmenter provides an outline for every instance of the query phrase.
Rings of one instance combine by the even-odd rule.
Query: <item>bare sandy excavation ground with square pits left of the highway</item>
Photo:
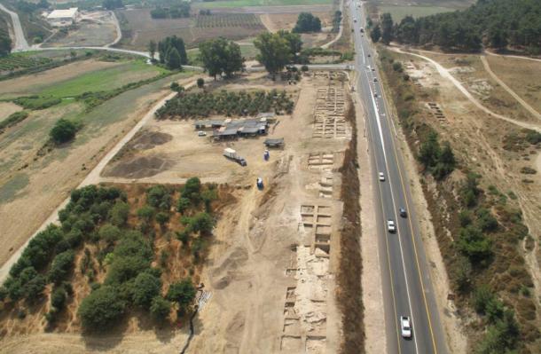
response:
[[[337,199],[341,175],[336,171],[348,134],[312,138],[317,90],[331,90],[330,83],[337,82],[321,76],[306,77],[294,87],[301,95],[294,114],[279,117],[268,137],[285,138],[286,147],[271,150],[271,161],[263,161],[263,138],[235,142],[239,151],[247,149],[248,167],[244,169],[223,159],[219,153],[222,146],[215,151],[216,147],[204,138],[195,146],[201,149],[201,160],[208,158],[215,161],[216,169],[232,170],[226,176],[237,186],[235,197],[239,202],[225,210],[216,225],[216,240],[202,276],[212,295],[195,321],[196,336],[189,352],[338,351],[341,314],[334,301],[334,273],[340,256],[342,204]],[[270,85],[267,79],[255,79],[255,87]],[[237,86],[246,88],[246,82],[231,84],[231,88]],[[340,91],[341,83],[332,88]],[[340,110],[343,96],[340,92],[337,95],[332,97],[339,103],[331,99],[331,105]],[[321,105],[320,101],[318,98]],[[176,150],[179,156],[172,166],[187,174],[192,166],[184,161],[191,157],[183,153],[194,147],[188,144],[190,141],[197,144],[192,139],[196,132],[183,122],[155,123],[141,124],[145,125],[141,133],[165,130],[174,138],[165,138],[165,143],[150,150],[173,141],[169,151]],[[104,161],[119,149],[112,150]],[[205,177],[203,169],[191,173]],[[96,182],[100,179],[98,173],[91,176]],[[212,173],[209,176],[215,177]],[[255,188],[255,177],[263,177],[263,191]],[[176,177],[178,180],[182,178]],[[76,334],[32,334],[4,339],[0,352],[51,352],[67,347],[70,352],[171,352],[182,347],[185,337],[181,332],[165,338],[153,331],[99,341]]]

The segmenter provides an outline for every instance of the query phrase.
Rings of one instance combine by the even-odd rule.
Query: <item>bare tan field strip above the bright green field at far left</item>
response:
[[[5,80],[0,85],[0,97],[18,97],[27,95],[28,90],[37,90],[40,85],[60,83],[85,73],[98,71],[107,67],[117,67],[122,62],[107,62],[94,59],[80,60],[51,70],[33,75],[24,75],[16,79]]]

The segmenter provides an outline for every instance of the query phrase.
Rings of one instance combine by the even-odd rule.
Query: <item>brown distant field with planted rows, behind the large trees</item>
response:
[[[216,36],[239,40],[264,31],[257,16],[249,13],[222,13],[168,20],[154,20],[147,10],[118,13],[123,35],[120,46],[137,50],[145,50],[151,40],[159,42],[169,35],[179,36],[188,47],[195,47],[197,43]]]

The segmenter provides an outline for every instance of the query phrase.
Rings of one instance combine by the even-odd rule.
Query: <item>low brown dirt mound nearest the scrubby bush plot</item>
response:
[[[106,170],[105,177],[144,178],[153,177],[165,169],[171,168],[173,163],[164,157],[141,156],[129,161],[122,161],[112,169]]]

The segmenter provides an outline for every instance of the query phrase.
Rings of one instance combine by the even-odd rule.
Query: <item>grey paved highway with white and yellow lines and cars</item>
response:
[[[365,106],[367,135],[375,174],[385,181],[376,185],[379,199],[374,201],[378,214],[381,283],[385,304],[385,323],[389,353],[446,353],[427,260],[412,209],[412,197],[400,151],[396,148],[396,127],[381,96],[380,77],[374,51],[365,28],[364,8],[350,1],[351,23],[355,39],[355,68],[358,97]],[[407,216],[399,215],[404,208]],[[396,232],[387,230],[388,220],[396,223]],[[401,335],[401,316],[412,320],[412,338]]]

